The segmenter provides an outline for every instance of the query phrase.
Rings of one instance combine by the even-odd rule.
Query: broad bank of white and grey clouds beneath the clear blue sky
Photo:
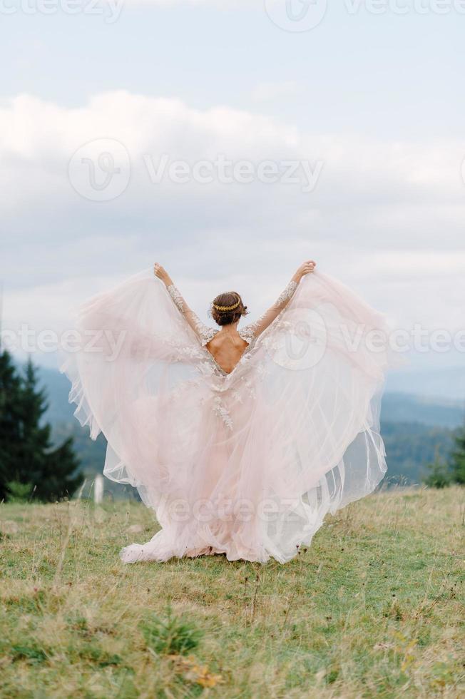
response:
[[[68,164],[83,144],[102,138],[123,144],[131,171],[118,198],[93,201],[76,193]],[[166,176],[157,184],[146,162],[156,169],[163,154],[185,161],[191,173],[200,160],[213,165],[221,155],[247,160],[255,180],[224,183],[213,168],[208,184]],[[312,255],[396,322],[457,327],[465,292],[464,155],[447,138],[316,137],[266,115],[226,106],[201,111],[126,91],[79,108],[17,96],[0,107],[6,321],[60,325],[64,308],[82,295],[155,258],[200,312],[223,284],[240,285],[260,311]],[[257,181],[260,163],[286,160],[321,161],[313,191],[302,191],[302,182]],[[97,168],[97,175],[102,182],[105,173]]]

